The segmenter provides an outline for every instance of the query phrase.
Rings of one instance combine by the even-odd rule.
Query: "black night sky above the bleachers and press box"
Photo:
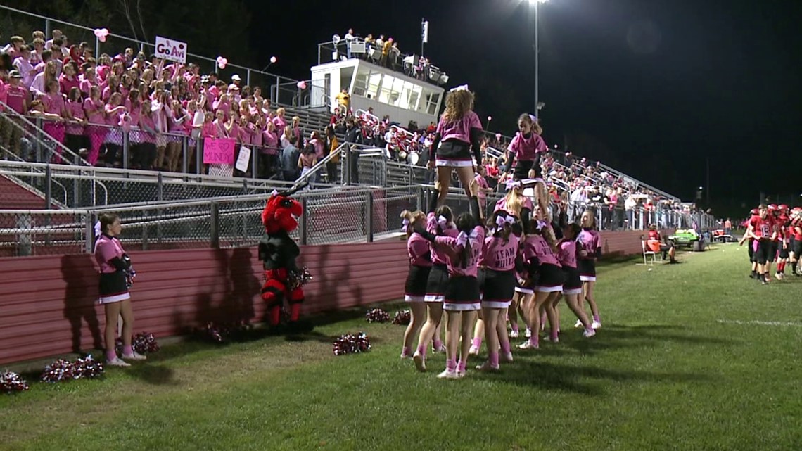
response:
[[[451,75],[448,87],[476,92],[480,117],[493,116],[489,129],[511,134],[533,110],[529,0],[299,1],[281,11],[247,2],[253,46],[265,61],[279,57],[271,69],[281,75],[308,78],[316,43],[349,27],[419,53],[425,17],[424,55]],[[788,165],[802,119],[797,3],[549,0],[540,7],[546,142],[684,200],[707,189],[706,159],[713,205],[751,205],[761,190],[798,196],[798,160]]]

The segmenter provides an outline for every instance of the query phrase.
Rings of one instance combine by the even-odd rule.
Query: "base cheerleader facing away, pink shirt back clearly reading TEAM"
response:
[[[484,319],[484,338],[488,342],[488,360],[476,367],[479,371],[494,372],[501,361],[512,362],[507,335],[506,311],[512,302],[516,282],[516,258],[519,238],[512,233],[515,218],[505,213],[496,214],[488,221],[490,236],[484,238],[480,261],[480,299]],[[478,323],[478,322],[477,322]],[[476,335],[475,335],[476,336]],[[481,342],[474,346],[477,351]]]

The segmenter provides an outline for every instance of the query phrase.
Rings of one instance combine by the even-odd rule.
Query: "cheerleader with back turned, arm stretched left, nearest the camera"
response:
[[[476,322],[476,311],[481,308],[477,275],[484,246],[484,226],[472,213],[462,213],[456,218],[456,228],[460,231],[456,238],[435,236],[426,230],[415,230],[434,242],[436,246],[448,250],[448,282],[443,303],[443,310],[447,313],[446,368],[437,376],[440,379],[458,379],[465,376],[468,351],[471,347],[469,337]],[[459,361],[457,361],[458,356]]]

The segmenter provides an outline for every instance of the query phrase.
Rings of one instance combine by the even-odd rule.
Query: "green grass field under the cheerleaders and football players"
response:
[[[435,378],[442,355],[415,372],[403,327],[363,319],[166,347],[104,380],[0,396],[0,449],[802,449],[802,280],[760,286],[745,252],[604,266],[596,337],[563,306],[561,343],[463,380]],[[360,330],[371,352],[332,355]]]

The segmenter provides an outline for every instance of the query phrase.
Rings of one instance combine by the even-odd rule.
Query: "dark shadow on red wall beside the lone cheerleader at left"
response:
[[[67,287],[64,289],[64,318],[72,329],[72,351],[81,350],[81,329],[87,323],[92,335],[92,344],[100,349],[100,324],[95,311],[98,297],[98,271],[90,254],[64,255],[61,258],[61,276]]]

